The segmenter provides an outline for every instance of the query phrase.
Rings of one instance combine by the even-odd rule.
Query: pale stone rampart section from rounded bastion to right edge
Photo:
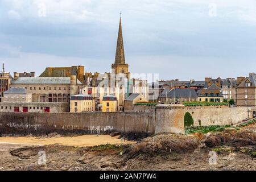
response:
[[[246,118],[253,118],[256,107],[175,107],[156,108],[155,133],[184,133],[184,116],[190,113],[194,126],[234,125]]]

